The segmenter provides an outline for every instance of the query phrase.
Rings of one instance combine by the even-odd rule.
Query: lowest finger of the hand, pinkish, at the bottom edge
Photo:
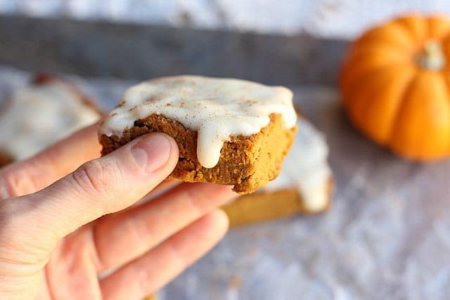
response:
[[[155,249],[103,278],[103,299],[143,299],[205,255],[223,237],[228,219],[213,211],[162,242]]]

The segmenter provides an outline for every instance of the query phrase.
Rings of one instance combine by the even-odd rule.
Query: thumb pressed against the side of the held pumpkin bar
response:
[[[53,244],[100,216],[134,204],[163,181],[178,161],[178,147],[164,133],[150,133],[76,171],[37,193],[5,200],[12,226],[31,230],[39,247]],[[5,211],[2,212],[4,214]]]

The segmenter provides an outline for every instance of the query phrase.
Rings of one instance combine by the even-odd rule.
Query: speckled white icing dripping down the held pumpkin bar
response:
[[[271,113],[281,114],[285,128],[293,128],[297,115],[292,98],[293,93],[283,86],[200,76],[165,77],[128,89],[99,132],[120,137],[136,119],[164,115],[198,131],[198,161],[212,168],[219,162],[224,141],[258,133],[269,124]]]

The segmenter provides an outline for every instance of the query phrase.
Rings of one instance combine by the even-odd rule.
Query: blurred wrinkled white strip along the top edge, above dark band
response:
[[[8,0],[0,13],[354,39],[405,13],[449,13],[448,0]]]

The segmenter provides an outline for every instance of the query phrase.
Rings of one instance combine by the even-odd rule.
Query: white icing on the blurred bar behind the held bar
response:
[[[302,203],[311,212],[321,211],[328,205],[328,145],[323,135],[304,118],[297,120],[297,135],[280,175],[261,190],[297,188]]]

